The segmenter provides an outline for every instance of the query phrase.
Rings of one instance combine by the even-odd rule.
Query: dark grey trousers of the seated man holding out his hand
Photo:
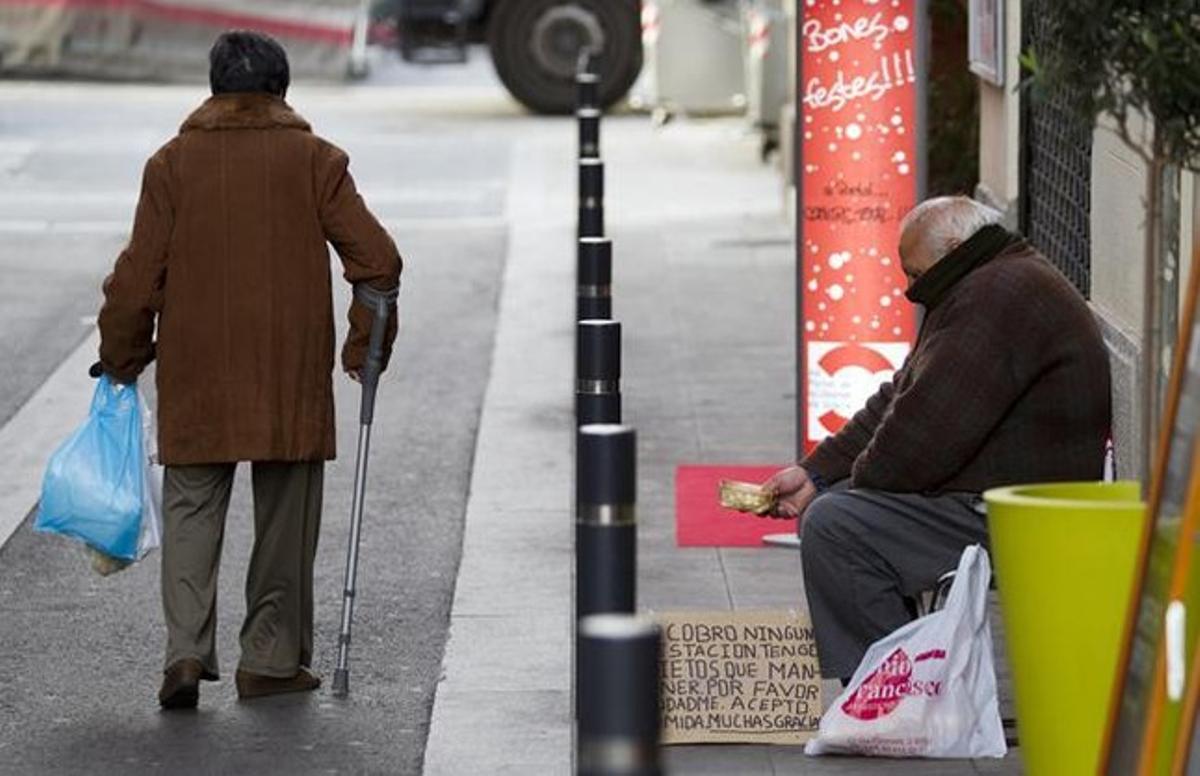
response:
[[[912,601],[988,545],[976,493],[922,495],[839,483],[800,522],[804,591],[821,674],[846,679],[866,649],[913,619]]]

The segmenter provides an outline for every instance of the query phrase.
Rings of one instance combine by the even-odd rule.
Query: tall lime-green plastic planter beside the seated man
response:
[[[984,494],[1027,776],[1096,772],[1145,504],[1136,482]]]

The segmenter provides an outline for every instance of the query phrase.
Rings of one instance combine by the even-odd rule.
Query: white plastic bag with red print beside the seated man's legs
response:
[[[988,552],[967,547],[946,608],[871,644],[804,752],[1003,757],[988,621],[990,579]]]

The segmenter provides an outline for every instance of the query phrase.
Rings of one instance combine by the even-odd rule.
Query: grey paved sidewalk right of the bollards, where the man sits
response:
[[[786,465],[794,456],[792,227],[775,172],[756,166],[751,142],[731,136],[730,125],[683,125],[658,145],[606,146],[625,420],[638,432],[643,610],[804,607],[794,551],[679,548],[674,540],[677,465]],[[670,150],[653,158],[624,152],[658,146]],[[671,191],[655,191],[652,174],[640,172],[647,169]],[[656,203],[670,203],[658,222]],[[839,690],[827,682],[826,702]],[[1020,771],[1015,753],[905,762],[808,758],[787,746],[676,746],[665,762],[679,774]]]

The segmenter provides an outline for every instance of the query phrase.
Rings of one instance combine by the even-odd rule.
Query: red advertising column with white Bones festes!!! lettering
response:
[[[922,190],[920,0],[798,0],[800,452],[892,378],[916,333],[896,255]]]

